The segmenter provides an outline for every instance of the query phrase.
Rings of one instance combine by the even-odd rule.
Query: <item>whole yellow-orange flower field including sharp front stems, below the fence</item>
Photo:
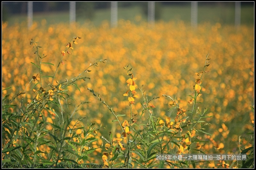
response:
[[[116,28],[110,28],[108,22],[103,22],[100,27],[90,24],[46,25],[46,20],[42,20],[35,22],[28,30],[25,23],[14,26],[2,23],[2,90],[11,87],[2,91],[2,108],[4,96],[9,95],[5,102],[11,100],[13,106],[6,110],[22,115],[31,104],[37,103],[35,101],[45,99],[44,91],[48,94],[47,101],[40,106],[48,109],[37,109],[35,112],[40,116],[12,117],[25,124],[11,136],[6,134],[11,134],[13,127],[8,129],[3,126],[10,119],[2,118],[2,148],[22,146],[14,151],[28,149],[27,155],[19,151],[20,158],[9,158],[10,152],[14,151],[6,150],[2,153],[3,160],[20,159],[18,163],[22,163],[28,159],[42,164],[47,160],[48,163],[56,161],[56,165],[67,161],[64,156],[61,158],[63,153],[57,154],[57,151],[56,158],[51,156],[53,144],[39,139],[43,132],[39,134],[39,129],[35,127],[30,130],[31,134],[26,130],[26,122],[44,122],[41,124],[45,130],[42,138],[57,142],[58,139],[48,133],[57,135],[56,128],[63,125],[65,117],[70,118],[70,127],[77,128],[74,138],[70,139],[72,142],[81,144],[86,142],[83,139],[92,140],[88,145],[70,144],[77,152],[77,155],[74,154],[77,158],[70,156],[69,159],[77,164],[95,163],[112,167],[116,161],[116,164],[126,163],[133,167],[158,167],[159,162],[154,158],[144,162],[138,158],[138,155],[143,155],[140,148],[147,150],[150,145],[146,145],[146,141],[143,144],[145,138],[139,140],[136,134],[139,130],[143,131],[142,127],[146,129],[147,123],[150,126],[154,122],[151,118],[156,118],[159,131],[174,128],[175,125],[174,133],[179,135],[175,139],[177,145],[174,142],[174,146],[163,149],[163,142],[151,148],[152,151],[155,149],[155,153],[169,153],[171,148],[176,148],[178,153],[197,153],[200,150],[208,154],[238,154],[254,145],[254,112],[250,107],[253,105],[254,108],[253,26],[241,25],[237,30],[234,26],[205,23],[195,30],[182,21],[157,22],[153,27],[143,22],[134,25],[125,20],[120,20]],[[34,45],[36,47],[33,48]],[[80,79],[81,74],[83,79]],[[176,115],[177,109],[172,109],[176,106],[179,116],[178,113]],[[207,115],[201,116],[204,121],[197,121],[192,128],[189,121],[193,122],[193,114],[195,119],[200,117],[198,114],[203,113],[204,108],[208,108]],[[184,110],[193,110],[193,114]],[[145,126],[136,126],[141,122],[146,122]],[[186,125],[181,126],[182,123]],[[205,124],[207,126],[203,130],[197,131]],[[38,139],[35,145],[26,145],[30,143],[22,137],[26,131],[29,138],[34,135]],[[190,134],[182,137],[183,133],[188,134],[187,131]],[[169,138],[168,135],[161,135],[149,135],[148,140]],[[58,135],[55,137],[59,138]],[[136,152],[132,151],[133,144],[128,139],[136,143]],[[128,160],[127,156],[122,159],[118,155],[115,160],[113,157],[110,160],[114,150],[110,152],[108,148],[112,145],[115,149],[120,147],[120,155],[131,151],[128,152],[131,159]],[[129,150],[127,146],[132,147]],[[193,146],[194,150],[189,146]],[[83,152],[88,154],[83,155]],[[218,163],[197,163],[195,167],[225,165]],[[160,165],[165,168],[179,167],[168,162]],[[242,163],[230,161],[225,167],[241,167],[239,165]],[[186,167],[193,167],[193,163]]]

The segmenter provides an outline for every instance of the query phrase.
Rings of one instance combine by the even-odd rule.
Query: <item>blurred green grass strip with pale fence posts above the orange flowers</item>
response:
[[[76,21],[100,25],[108,20],[183,20],[196,23],[254,24],[254,2],[2,2],[2,21],[9,25],[46,19],[48,24]]]

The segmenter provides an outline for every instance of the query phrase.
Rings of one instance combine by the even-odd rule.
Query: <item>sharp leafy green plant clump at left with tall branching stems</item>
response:
[[[61,101],[66,101],[70,97],[67,93],[68,87],[73,85],[76,88],[76,81],[88,79],[83,77],[83,73],[87,73],[89,67],[97,65],[97,62],[87,67],[77,77],[57,82],[53,85],[57,70],[62,63],[65,53],[69,53],[68,49],[72,50],[73,44],[77,44],[77,39],[74,37],[66,46],[65,51],[62,51],[62,58],[52,76],[42,76],[42,64],[53,65],[52,63],[42,62],[46,55],[41,55],[38,42],[30,41],[33,49],[36,49],[36,57],[38,64],[32,63],[39,70],[39,74],[33,76],[32,81],[39,81],[32,89],[24,90],[18,93],[13,99],[9,100],[9,96],[2,96],[2,168],[13,167],[19,165],[37,165],[35,167],[62,167],[63,165],[78,164],[80,161],[90,162],[90,156],[96,148],[92,148],[93,142],[97,138],[92,137],[95,129],[94,123],[87,123],[84,126],[81,121],[86,117],[80,117],[78,120],[73,120],[73,115],[78,108],[88,102],[82,102],[74,110],[69,110],[68,103],[66,114],[63,110]],[[106,60],[100,60],[106,61]],[[42,78],[52,78],[51,82],[42,81]],[[28,86],[27,86],[28,87]],[[38,88],[38,89],[37,89]],[[7,90],[11,87],[3,89]],[[37,90],[36,90],[37,89]],[[46,91],[45,89],[49,89]],[[78,88],[79,89],[79,88]],[[30,103],[24,104],[24,95],[30,93],[35,96]],[[3,93],[2,93],[3,94]],[[12,102],[18,96],[22,96],[20,105],[13,105]],[[43,166],[44,165],[44,166]]]

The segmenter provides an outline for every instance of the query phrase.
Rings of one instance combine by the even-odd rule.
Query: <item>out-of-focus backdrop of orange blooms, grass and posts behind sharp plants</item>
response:
[[[174,121],[176,112],[168,111],[172,101],[162,95],[176,97],[180,107],[190,110],[188,95],[194,94],[195,73],[204,68],[208,53],[211,60],[206,71],[210,72],[204,74],[202,104],[198,106],[200,110],[209,108],[207,116],[213,117],[205,120],[211,123],[205,130],[211,137],[200,134],[203,141],[210,141],[203,149],[240,153],[241,148],[254,145],[250,135],[254,132],[250,108],[254,105],[254,2],[2,2],[2,89],[12,87],[2,94],[11,98],[27,88],[24,103],[35,99],[32,89],[39,89],[39,84],[28,85],[39,73],[31,64],[38,64],[31,39],[42,46],[40,52],[47,55],[44,62],[54,64],[42,64],[42,86],[48,90],[61,51],[76,36],[82,39],[66,54],[57,81],[71,80],[90,63],[108,61],[92,67],[86,73],[91,80],[77,82],[79,90],[65,89],[75,101],[68,98],[70,105],[60,101],[64,110],[69,107],[72,111],[79,103],[90,102],[74,117],[87,117],[84,124],[96,123],[99,141],[93,147],[101,145],[101,134],[107,138],[112,131],[120,136],[121,129],[87,88],[100,93],[117,114],[126,114],[121,121],[129,119],[128,98],[123,96],[128,77],[123,67],[130,64],[138,78],[136,84],[138,88],[144,85],[148,100],[160,96],[150,103],[156,106],[153,115]],[[140,97],[135,99],[133,112],[140,115],[143,98],[139,89],[137,93]],[[20,95],[13,103],[20,106],[21,99]],[[58,107],[54,109],[60,113]]]

